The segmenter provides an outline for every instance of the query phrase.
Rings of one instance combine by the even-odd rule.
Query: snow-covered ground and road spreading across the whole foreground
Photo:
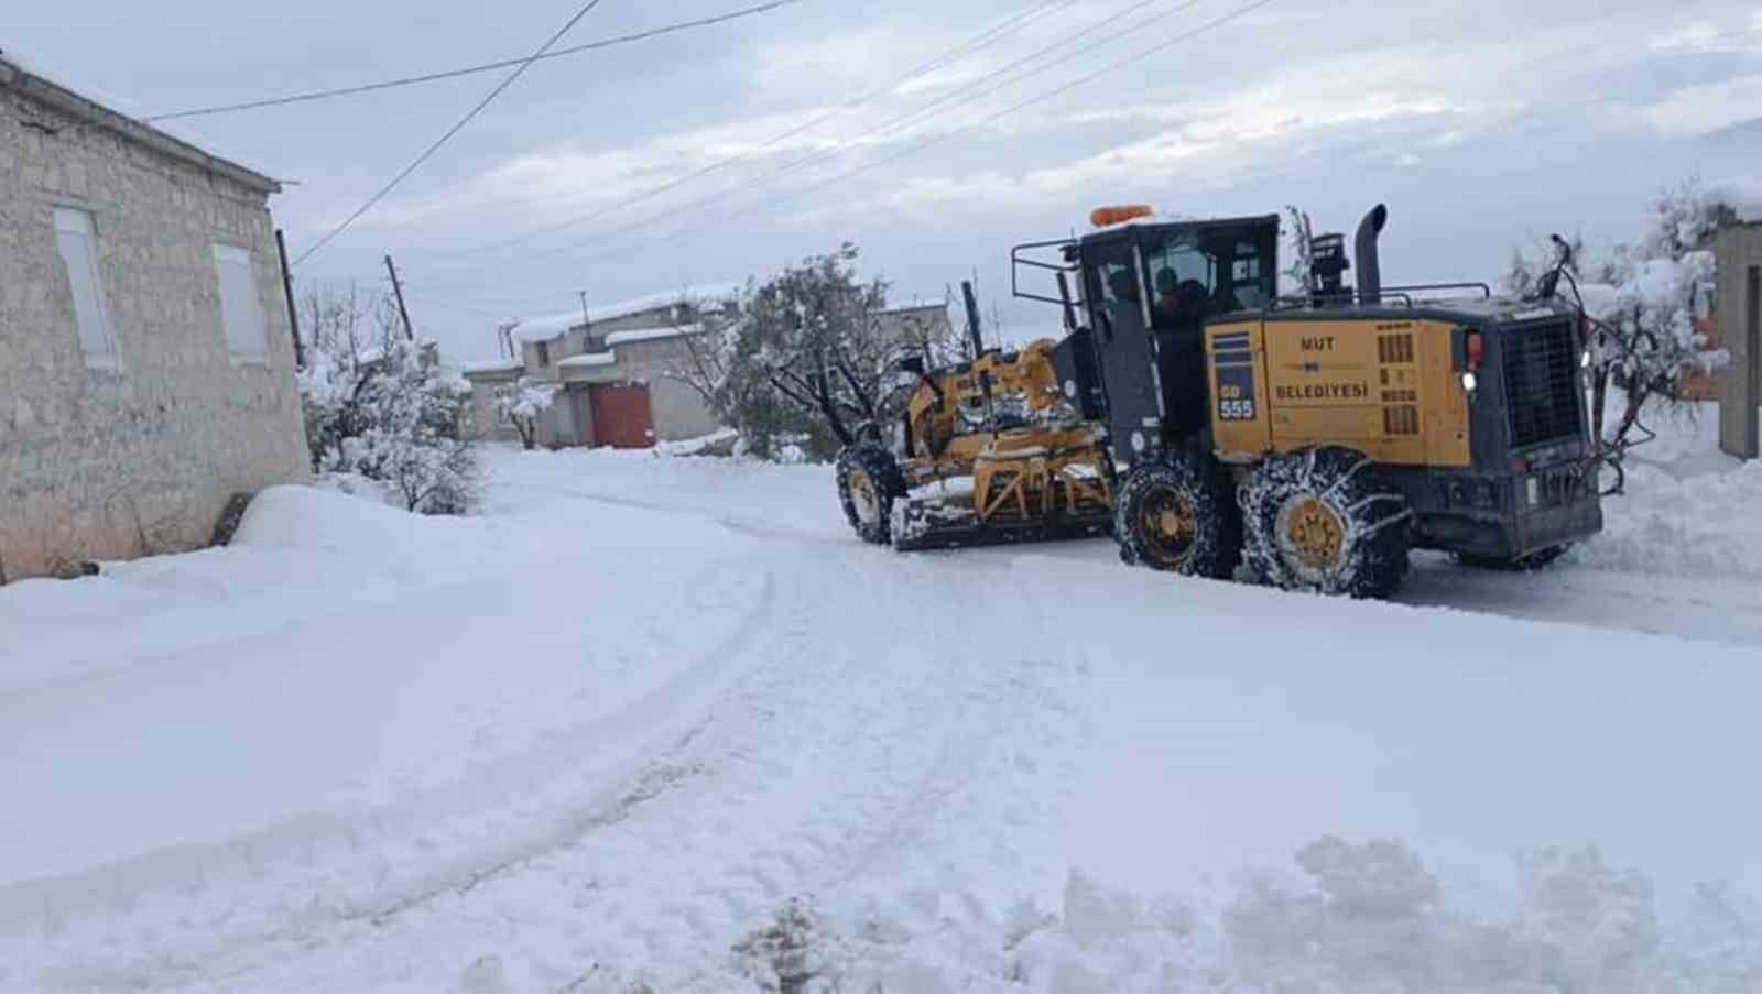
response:
[[[1709,434],[1404,605],[895,555],[825,467],[271,492],[0,590],[0,990],[1762,990],[1762,469]]]

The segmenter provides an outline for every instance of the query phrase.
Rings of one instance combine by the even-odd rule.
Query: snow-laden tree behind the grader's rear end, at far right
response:
[[[1505,277],[1508,291],[1533,296],[1566,259],[1556,293],[1582,301],[1591,319],[1591,419],[1607,448],[1628,442],[1653,398],[1674,404],[1686,374],[1730,361],[1695,328],[1699,307],[1713,294],[1713,252],[1704,248],[1716,222],[1713,197],[1688,180],[1653,201],[1653,215],[1639,241],[1603,254],[1586,252],[1582,238],[1517,248]],[[1625,404],[1605,430],[1610,386],[1625,391]]]

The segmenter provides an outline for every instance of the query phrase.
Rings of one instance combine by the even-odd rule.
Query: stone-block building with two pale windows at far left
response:
[[[278,190],[0,55],[0,582],[307,478]]]

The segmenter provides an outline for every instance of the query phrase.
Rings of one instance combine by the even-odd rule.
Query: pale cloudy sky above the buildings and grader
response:
[[[759,0],[603,0],[562,44]],[[0,48],[155,115],[530,53],[578,0],[16,4]],[[504,70],[506,72],[506,70]],[[291,183],[300,256],[502,74],[169,130]],[[497,319],[765,275],[855,241],[893,296],[976,273],[1011,338],[1010,245],[1089,208],[1392,210],[1394,280],[1491,278],[1514,241],[1644,224],[1699,173],[1762,173],[1762,4],[798,0],[536,63],[301,287],[384,287],[462,360]]]

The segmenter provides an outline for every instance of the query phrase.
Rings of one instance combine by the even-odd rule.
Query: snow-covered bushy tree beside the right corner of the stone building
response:
[[[352,291],[308,298],[312,321],[300,395],[314,472],[356,472],[391,485],[405,508],[462,515],[478,488],[469,441],[470,384],[439,361],[433,342],[411,342],[388,301]],[[377,317],[377,344],[361,321]]]

